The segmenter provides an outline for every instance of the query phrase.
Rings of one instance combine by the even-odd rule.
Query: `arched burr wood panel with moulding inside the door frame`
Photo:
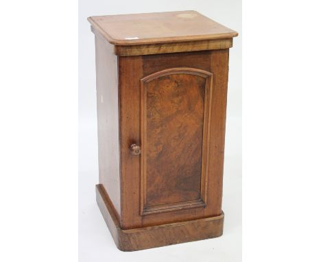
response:
[[[141,80],[141,214],[206,205],[212,73],[192,68]]]

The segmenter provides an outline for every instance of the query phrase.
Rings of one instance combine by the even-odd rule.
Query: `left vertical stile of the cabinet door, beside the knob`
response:
[[[121,228],[143,226],[139,215],[140,158],[130,145],[141,144],[140,82],[143,78],[141,56],[119,57],[119,147],[121,170]]]

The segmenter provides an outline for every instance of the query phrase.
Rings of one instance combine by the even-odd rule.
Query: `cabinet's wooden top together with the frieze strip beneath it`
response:
[[[88,17],[117,56],[226,49],[237,32],[195,11]]]

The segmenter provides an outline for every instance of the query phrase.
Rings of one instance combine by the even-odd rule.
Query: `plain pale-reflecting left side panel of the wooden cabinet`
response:
[[[112,45],[95,36],[99,184],[120,214],[117,56]]]

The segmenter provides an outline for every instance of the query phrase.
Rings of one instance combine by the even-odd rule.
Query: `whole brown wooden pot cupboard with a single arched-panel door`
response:
[[[97,204],[117,247],[219,237],[228,51],[237,32],[195,11],[91,16]]]

